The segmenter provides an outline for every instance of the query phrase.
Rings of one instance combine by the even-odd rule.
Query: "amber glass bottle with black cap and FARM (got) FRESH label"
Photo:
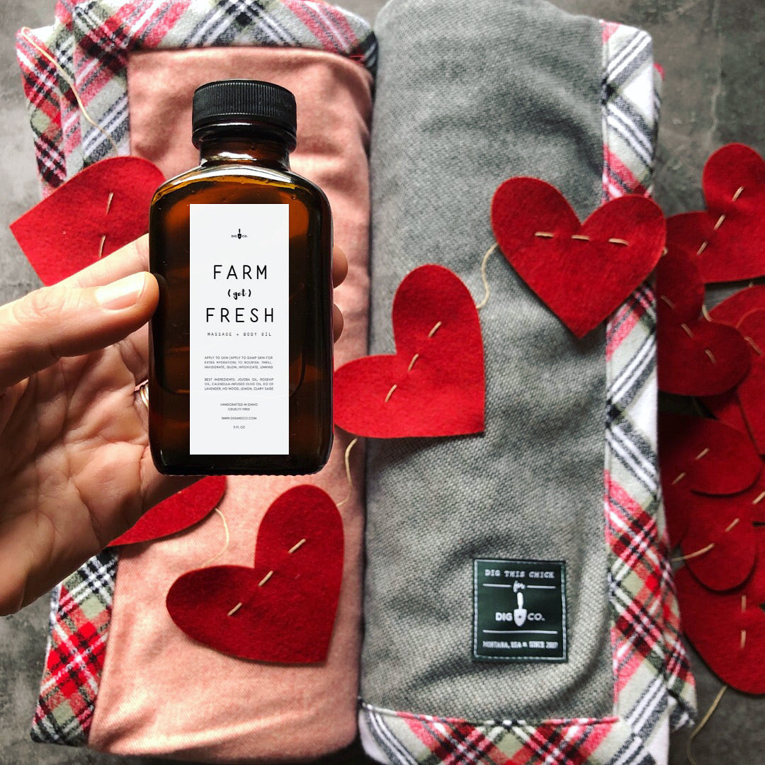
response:
[[[290,171],[295,97],[194,93],[200,165],[151,202],[149,442],[165,474],[308,474],[332,445],[332,219]]]

